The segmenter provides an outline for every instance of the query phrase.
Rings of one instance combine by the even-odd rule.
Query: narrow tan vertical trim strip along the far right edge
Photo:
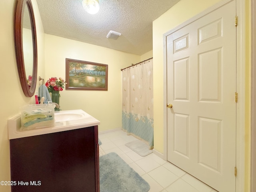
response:
[[[256,190],[256,2],[252,0],[251,192]]]

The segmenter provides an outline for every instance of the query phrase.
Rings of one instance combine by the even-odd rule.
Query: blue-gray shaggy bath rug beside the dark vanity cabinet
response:
[[[149,184],[118,154],[100,156],[100,192],[148,192]]]

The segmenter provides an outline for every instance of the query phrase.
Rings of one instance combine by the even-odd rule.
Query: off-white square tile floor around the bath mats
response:
[[[150,184],[149,192],[217,192],[156,154],[142,157],[125,144],[137,140],[117,130],[99,134],[100,156],[115,152]]]

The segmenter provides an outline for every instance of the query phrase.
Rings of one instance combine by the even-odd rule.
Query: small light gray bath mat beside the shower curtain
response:
[[[125,146],[138,153],[140,156],[144,157],[152,153],[152,150],[149,149],[149,146],[141,140],[132,141],[126,143]]]

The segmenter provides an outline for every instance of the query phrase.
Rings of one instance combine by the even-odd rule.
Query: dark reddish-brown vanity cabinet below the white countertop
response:
[[[98,125],[10,139],[10,166],[12,192],[99,192]]]

